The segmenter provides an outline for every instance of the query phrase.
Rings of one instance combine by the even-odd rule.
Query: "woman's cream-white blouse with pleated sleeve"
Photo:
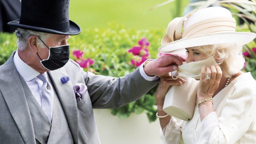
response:
[[[162,144],[227,143],[256,144],[256,81],[250,72],[236,77],[215,97],[214,111],[202,121],[194,116],[180,123],[172,116],[160,130]]]

